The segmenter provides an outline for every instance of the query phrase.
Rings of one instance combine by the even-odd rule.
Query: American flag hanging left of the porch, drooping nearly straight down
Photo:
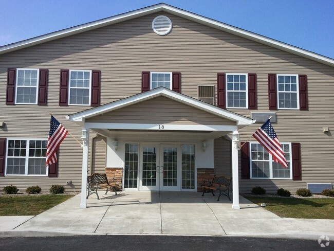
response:
[[[46,150],[46,166],[57,162],[57,150],[68,131],[51,115],[48,146]]]

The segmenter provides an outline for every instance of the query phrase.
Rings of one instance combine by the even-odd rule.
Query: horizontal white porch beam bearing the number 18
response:
[[[163,128],[162,128],[163,126]],[[86,128],[110,130],[157,130],[163,131],[226,131],[232,132],[235,126],[202,124],[132,124],[132,123],[85,123]]]

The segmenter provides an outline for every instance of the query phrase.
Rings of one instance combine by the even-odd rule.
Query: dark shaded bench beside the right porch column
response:
[[[229,200],[231,201],[230,198],[230,184],[231,184],[231,180],[232,178],[224,176],[224,175],[214,175],[212,181],[203,181],[203,185],[201,185],[202,189],[203,189],[203,193],[202,196],[204,196],[204,193],[207,190],[211,190],[212,195],[214,195],[213,190],[218,190],[219,191],[219,196],[218,196],[218,200],[220,198],[221,194],[224,194],[225,196],[227,196],[227,198],[229,198]]]

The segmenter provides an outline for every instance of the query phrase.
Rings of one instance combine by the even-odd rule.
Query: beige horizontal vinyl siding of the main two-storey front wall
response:
[[[168,35],[157,35],[151,28],[159,14],[167,15],[173,23]],[[199,84],[216,86],[217,73],[256,73],[256,112],[268,112],[268,74],[306,74],[309,111],[277,110],[278,122],[273,124],[281,142],[301,143],[303,181],[240,180],[240,191],[249,192],[256,185],[270,187],[270,191],[279,187],[295,191],[306,188],[307,182],[334,182],[333,67],[161,12],[0,56],[2,94],[6,93],[8,68],[49,69],[48,105],[6,105],[2,95],[0,121],[6,127],[0,129],[0,137],[45,138],[51,112],[79,140],[81,128],[64,116],[90,106],[58,105],[60,69],[101,70],[101,104],[140,93],[141,71],[180,72],[181,93],[193,98],[197,98]],[[229,110],[247,117],[251,113]],[[198,119],[196,116],[188,117],[189,121]],[[259,126],[240,130],[240,138],[246,140]],[[329,127],[330,132],[324,134],[323,127]],[[80,190],[82,148],[70,136],[61,146],[59,166],[58,178],[6,176],[0,177],[0,184],[18,184],[20,189],[40,185],[44,190],[51,184],[61,184],[66,190]],[[72,180],[73,185],[66,185],[67,180]]]

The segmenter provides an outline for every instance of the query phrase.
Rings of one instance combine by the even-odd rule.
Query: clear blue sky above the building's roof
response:
[[[0,46],[158,3],[161,2],[0,0]],[[164,0],[163,3],[334,58],[334,0]]]

